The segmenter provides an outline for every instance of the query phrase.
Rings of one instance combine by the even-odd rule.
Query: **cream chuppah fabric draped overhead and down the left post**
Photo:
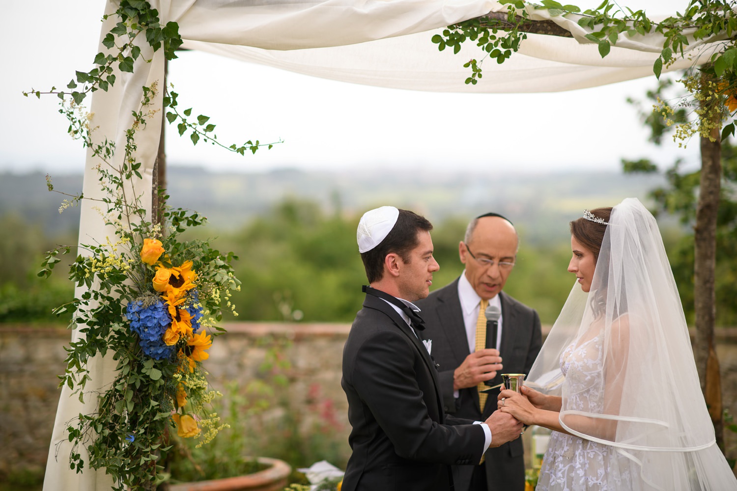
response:
[[[583,43],[586,32],[576,24],[575,15],[556,17],[552,20],[572,32],[574,38],[529,35],[519,53],[500,66],[487,62],[480,82],[466,85],[469,68],[463,68],[463,63],[483,56],[478,47],[468,42],[459,54],[453,54],[452,49],[439,52],[430,38],[450,24],[506,10],[495,1],[150,0],[150,4],[158,10],[162,24],[178,23],[183,47],[316,77],[388,88],[480,93],[570,91],[649,76],[660,53],[659,35],[622,35],[602,59],[595,44]],[[102,38],[115,26],[117,6],[116,1],[105,5],[105,13],[112,15],[102,22],[99,52],[107,52]],[[531,11],[531,15],[549,19],[546,10]],[[96,128],[96,141],[107,138],[116,143],[116,148],[124,148],[125,130],[133,122],[131,113],[140,110],[142,87],[156,88],[154,111],[146,126],[136,133],[136,160],[142,163],[142,178],[130,182],[150,213],[153,166],[163,116],[164,54],[161,50],[153,52],[145,44],[140,47],[142,56],[136,60],[133,74],[116,73],[118,81],[113,88],[94,93],[90,124]],[[691,44],[689,48],[694,50],[693,60],[680,60],[667,69],[702,63],[713,50],[708,44]],[[115,155],[113,164],[119,165],[121,160],[122,155]],[[95,169],[98,164],[88,152],[83,184],[86,198],[102,197]],[[105,226],[104,217],[91,200],[85,199],[81,205],[80,244],[104,243],[106,236],[113,235],[114,230]],[[79,289],[75,292],[77,297],[82,293]],[[83,334],[75,330],[72,340],[80,336]],[[115,364],[110,358],[91,360],[91,381],[85,390],[91,394],[105,390],[113,380]],[[63,388],[44,490],[110,489],[111,479],[104,470],[85,467],[83,473],[75,473],[69,468],[66,427],[78,414],[93,412],[95,404],[93,396],[82,403],[71,395],[71,389]]]

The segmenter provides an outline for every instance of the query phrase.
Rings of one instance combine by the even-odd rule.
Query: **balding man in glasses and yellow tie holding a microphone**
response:
[[[435,342],[444,409],[456,417],[491,416],[499,390],[479,391],[500,384],[502,372],[529,373],[542,345],[537,311],[502,291],[518,246],[517,230],[506,217],[486,213],[472,219],[458,244],[464,271],[418,303],[425,333]],[[493,313],[488,319],[487,311]],[[492,448],[474,467],[453,467],[453,476],[455,491],[523,491],[522,439]]]

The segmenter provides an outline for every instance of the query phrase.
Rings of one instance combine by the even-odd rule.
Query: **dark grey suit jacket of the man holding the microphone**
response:
[[[540,319],[537,311],[500,292],[502,304],[502,339],[500,355],[504,373],[528,374],[542,345]],[[486,407],[479,407],[475,387],[461,389],[458,399],[453,397],[453,371],[469,355],[461,300],[458,299],[458,279],[430,293],[416,305],[425,320],[425,336],[433,339],[433,358],[440,365],[439,378],[443,394],[444,410],[448,414],[471,420],[486,420],[497,409],[498,390],[489,394]],[[487,345],[488,347],[488,345]],[[500,384],[501,374],[492,385]],[[492,445],[494,435],[492,434]],[[486,481],[489,491],[523,491],[525,487],[525,462],[522,439],[518,438],[497,448],[489,448],[486,460]],[[453,467],[455,491],[467,491],[472,468]]]

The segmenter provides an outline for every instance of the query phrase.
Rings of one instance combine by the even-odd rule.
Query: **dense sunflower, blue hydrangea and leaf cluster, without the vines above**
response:
[[[236,257],[214,250],[210,241],[181,239],[188,227],[206,222],[198,213],[168,209],[166,226],[147,221],[125,166],[98,170],[109,196],[102,199],[108,204],[103,215],[116,241],[80,245],[84,253],[71,264],[69,278],[86,288],[56,310],[71,312],[71,327],[83,334],[67,348],[61,384],[85,402],[97,398],[97,411],[67,423],[70,465],[77,472],[85,461],[104,467],[118,490],[153,489],[168,478],[157,459],[170,448],[170,428],[199,439],[199,446],[226,426],[209,411],[219,392],[209,388],[203,361],[224,331],[216,325],[221,303],[237,315],[229,300],[240,289],[231,268]],[[48,276],[58,255],[70,250],[48,252],[39,275]],[[117,362],[102,393],[85,390],[94,356]]]

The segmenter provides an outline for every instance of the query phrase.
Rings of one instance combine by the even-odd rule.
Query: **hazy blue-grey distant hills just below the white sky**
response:
[[[82,175],[52,175],[58,191],[82,187]],[[401,169],[382,172],[303,172],[284,169],[263,174],[214,173],[170,167],[170,205],[191,208],[208,217],[215,230],[241,227],[287,198],[318,202],[329,212],[360,214],[374,205],[391,204],[425,214],[431,221],[469,217],[486,211],[508,216],[525,241],[567,236],[567,221],[584,208],[615,205],[624,197],[646,201],[663,184],[660,176],[617,172],[565,172],[536,175],[443,174]],[[76,229],[79,209],[58,213],[64,197],[46,191],[41,172],[0,173],[0,215],[17,213],[41,224],[46,233]]]

